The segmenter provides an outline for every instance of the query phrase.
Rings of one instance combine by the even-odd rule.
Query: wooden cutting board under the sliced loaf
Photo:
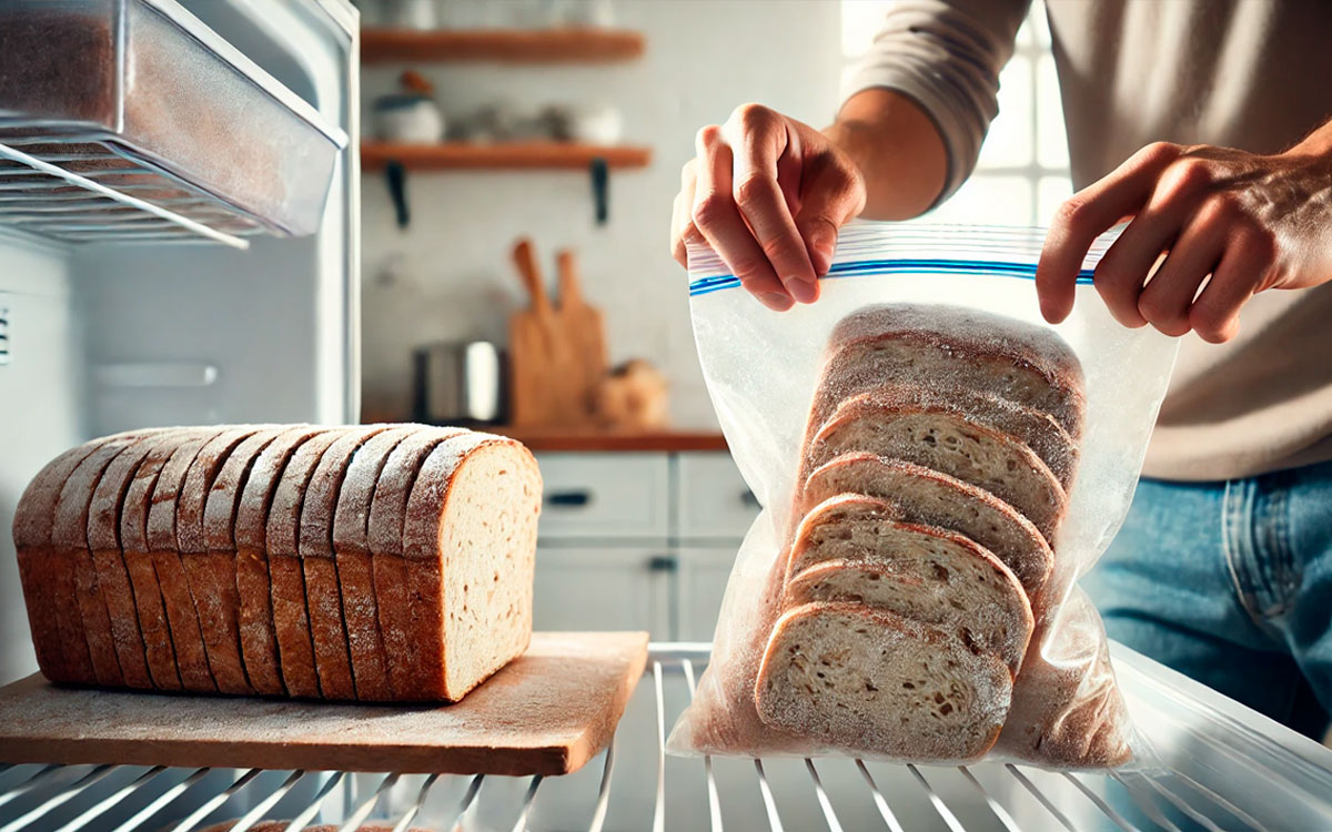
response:
[[[537,632],[452,706],[0,688],[0,763],[565,775],[610,741],[646,632]]]

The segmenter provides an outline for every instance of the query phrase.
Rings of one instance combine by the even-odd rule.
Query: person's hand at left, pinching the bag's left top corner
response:
[[[836,233],[864,208],[864,180],[823,133],[758,104],[698,132],[681,172],[671,252],[706,241],[770,309],[819,297]]]

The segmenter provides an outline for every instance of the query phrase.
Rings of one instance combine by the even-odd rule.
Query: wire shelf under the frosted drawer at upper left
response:
[[[13,126],[3,120],[4,128]],[[32,125],[28,125],[32,126]],[[253,216],[91,134],[0,134],[0,225],[49,241],[249,248]]]

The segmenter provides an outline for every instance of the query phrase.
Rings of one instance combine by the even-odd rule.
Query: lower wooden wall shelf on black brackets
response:
[[[409,170],[449,170],[482,168],[573,168],[583,170],[593,160],[603,158],[611,168],[645,168],[651,161],[651,148],[634,145],[585,145],[535,141],[500,144],[394,144],[368,141],[361,144],[361,168],[377,170],[390,161]]]

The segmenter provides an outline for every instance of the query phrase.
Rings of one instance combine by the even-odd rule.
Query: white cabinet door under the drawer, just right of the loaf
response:
[[[673,638],[673,570],[661,547],[537,550],[537,630],[646,630]]]

